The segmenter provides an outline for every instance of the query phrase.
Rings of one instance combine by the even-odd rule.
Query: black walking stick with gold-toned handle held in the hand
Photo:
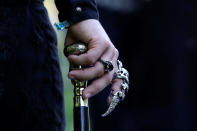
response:
[[[64,49],[66,56],[80,55],[87,51],[87,46],[81,43],[68,45]],[[81,70],[83,66],[70,63],[70,70]],[[71,80],[74,85],[74,131],[90,131],[88,99],[83,100],[82,92],[87,87],[87,81]]]

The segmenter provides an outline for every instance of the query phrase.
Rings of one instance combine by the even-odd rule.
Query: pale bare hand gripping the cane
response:
[[[65,44],[74,42],[84,42],[88,44],[88,52],[82,55],[70,55],[68,61],[76,65],[93,65],[85,70],[74,70],[69,72],[70,79],[92,80],[95,79],[83,91],[83,98],[90,98],[102,91],[112,82],[113,93],[120,90],[122,80],[113,79],[114,72],[117,71],[118,50],[115,48],[107,33],[98,20],[88,19],[69,27]],[[105,73],[103,65],[99,59],[112,61],[114,69]],[[109,101],[108,101],[109,102]]]

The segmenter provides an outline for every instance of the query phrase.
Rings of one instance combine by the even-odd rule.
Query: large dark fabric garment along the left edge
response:
[[[1,131],[64,131],[56,46],[42,0],[1,0]]]

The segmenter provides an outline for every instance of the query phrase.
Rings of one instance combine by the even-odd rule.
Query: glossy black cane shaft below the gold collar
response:
[[[90,131],[88,107],[74,108],[74,131]]]

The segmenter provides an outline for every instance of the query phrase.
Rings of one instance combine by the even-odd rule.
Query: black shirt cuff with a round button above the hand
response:
[[[99,19],[95,0],[55,0],[59,10],[59,20],[76,23],[86,19]],[[76,8],[81,7],[81,13]]]

